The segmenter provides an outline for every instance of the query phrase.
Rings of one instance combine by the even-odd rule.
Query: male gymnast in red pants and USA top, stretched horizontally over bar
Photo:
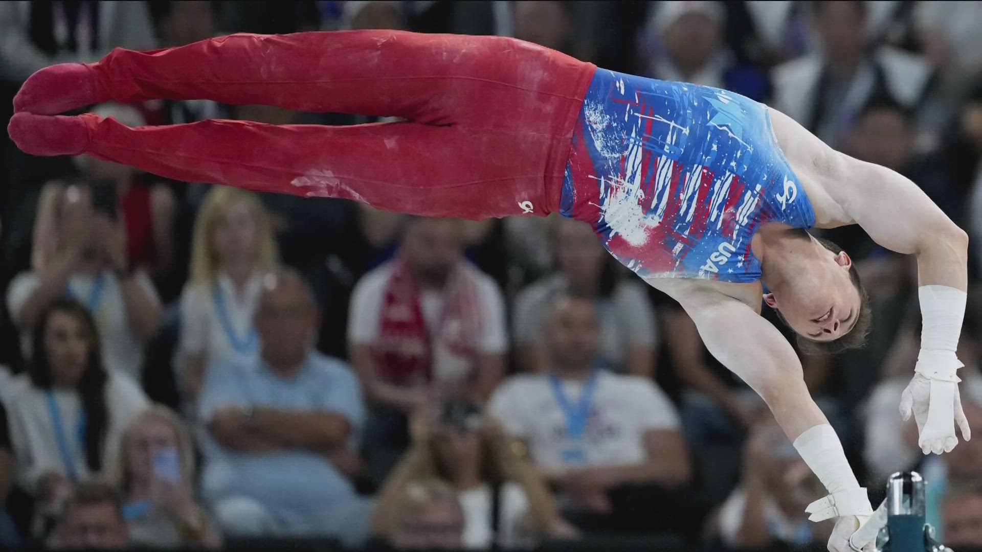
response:
[[[404,121],[135,129],[57,115],[154,98]],[[181,181],[416,215],[559,211],[591,224],[622,263],[682,304],[712,354],[767,402],[829,492],[807,511],[838,518],[837,552],[872,513],[866,490],[791,344],[760,309],[763,297],[814,347],[861,344],[869,306],[852,261],[806,232],[858,224],[917,259],[924,323],[903,418],[914,415],[925,454],[955,447],[955,421],[970,437],[955,375],[965,233],[909,180],[738,94],[597,69],[512,38],[355,30],[116,49],[98,63],[38,71],[14,107],[10,136],[35,155],[85,153]]]

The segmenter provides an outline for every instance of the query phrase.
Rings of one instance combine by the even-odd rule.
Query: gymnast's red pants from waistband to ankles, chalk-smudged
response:
[[[88,67],[97,101],[210,99],[406,121],[130,128],[82,115],[84,153],[181,181],[471,219],[559,210],[596,69],[513,38],[396,30],[233,34],[116,49]]]

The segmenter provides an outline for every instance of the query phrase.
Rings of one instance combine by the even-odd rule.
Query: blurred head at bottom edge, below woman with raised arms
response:
[[[410,482],[395,497],[392,529],[380,536],[396,550],[464,548],[464,506],[457,492],[440,479]]]

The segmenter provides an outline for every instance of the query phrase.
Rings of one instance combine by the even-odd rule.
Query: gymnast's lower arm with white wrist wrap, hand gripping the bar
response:
[[[801,458],[829,491],[808,507],[812,521],[838,517],[829,550],[849,550],[848,537],[872,514],[843,446],[804,383],[791,344],[748,305],[718,292],[682,298],[706,348],[767,403]]]

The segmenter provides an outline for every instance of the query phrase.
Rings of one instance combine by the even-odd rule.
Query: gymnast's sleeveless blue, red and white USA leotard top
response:
[[[760,279],[760,225],[815,222],[766,106],[603,69],[574,130],[562,212],[643,278],[726,282]]]

